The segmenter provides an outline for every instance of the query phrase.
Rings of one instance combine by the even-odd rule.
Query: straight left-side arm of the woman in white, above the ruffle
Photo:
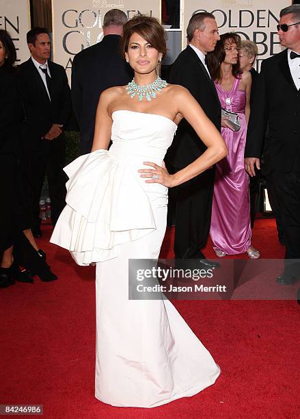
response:
[[[111,139],[111,125],[113,120],[109,115],[109,103],[113,97],[113,88],[100,94],[95,120],[95,131],[92,151],[107,150]]]

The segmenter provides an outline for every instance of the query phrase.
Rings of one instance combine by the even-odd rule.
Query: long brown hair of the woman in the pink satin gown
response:
[[[206,61],[210,71],[210,75],[215,81],[222,80],[221,64],[226,57],[226,50],[224,48],[226,44],[236,44],[237,48],[241,48],[241,36],[239,36],[238,34],[234,34],[234,32],[227,32],[226,34],[222,34],[220,36],[220,39],[217,41],[215,51],[209,52],[206,55]],[[234,75],[234,77],[238,79],[241,77],[242,73],[243,71],[241,71],[239,62],[233,64],[232,75]]]

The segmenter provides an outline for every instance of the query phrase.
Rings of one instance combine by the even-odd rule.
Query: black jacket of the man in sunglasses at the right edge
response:
[[[260,157],[269,122],[268,150],[272,167],[292,170],[300,149],[300,91],[288,66],[288,50],[262,62],[252,99],[245,157]]]

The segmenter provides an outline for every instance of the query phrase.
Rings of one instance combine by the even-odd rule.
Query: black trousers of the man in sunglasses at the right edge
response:
[[[295,164],[290,173],[273,171],[274,188],[282,216],[286,242],[285,270],[300,278],[300,170]],[[288,259],[294,259],[291,262]],[[295,259],[299,259],[295,263]]]

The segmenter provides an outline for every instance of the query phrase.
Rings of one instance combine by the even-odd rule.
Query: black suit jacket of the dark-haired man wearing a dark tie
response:
[[[48,60],[51,74],[51,100],[31,58],[18,66],[18,89],[25,115],[25,145],[39,148],[40,139],[53,123],[66,126],[71,114],[68,78],[63,66]]]

